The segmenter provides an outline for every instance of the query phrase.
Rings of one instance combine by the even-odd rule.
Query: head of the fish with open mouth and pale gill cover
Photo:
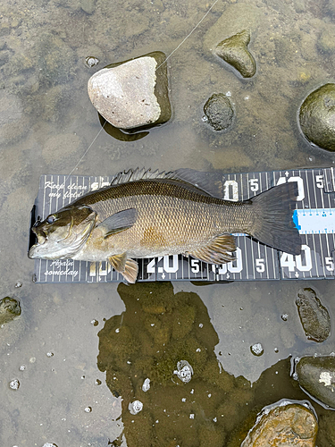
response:
[[[29,249],[31,259],[66,259],[88,240],[96,223],[96,212],[83,205],[69,205],[48,215],[32,227],[38,243]]]

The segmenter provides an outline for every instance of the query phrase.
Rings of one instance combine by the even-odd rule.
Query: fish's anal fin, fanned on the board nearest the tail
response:
[[[236,244],[234,237],[231,236],[231,234],[222,234],[205,247],[188,252],[188,255],[197,257],[200,261],[209,262],[211,264],[224,264],[235,259],[231,254],[231,252],[235,250]]]

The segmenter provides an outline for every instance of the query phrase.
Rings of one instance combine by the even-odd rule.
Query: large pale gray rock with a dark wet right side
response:
[[[88,80],[88,96],[120,129],[151,127],[171,117],[165,55],[150,53],[108,65]]]

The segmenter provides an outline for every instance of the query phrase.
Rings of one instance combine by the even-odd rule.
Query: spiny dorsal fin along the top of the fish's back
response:
[[[151,169],[146,170],[145,168],[129,169],[116,174],[111,181],[111,186],[128,181],[154,179],[182,181],[205,191],[211,196],[222,198],[222,178],[217,173],[202,173],[188,168],[181,168],[168,173],[165,173],[165,171],[159,172],[158,169],[153,172]]]

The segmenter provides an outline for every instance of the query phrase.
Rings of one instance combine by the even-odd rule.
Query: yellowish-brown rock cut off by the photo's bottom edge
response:
[[[262,410],[241,447],[314,447],[317,428],[306,402],[280,401]]]

